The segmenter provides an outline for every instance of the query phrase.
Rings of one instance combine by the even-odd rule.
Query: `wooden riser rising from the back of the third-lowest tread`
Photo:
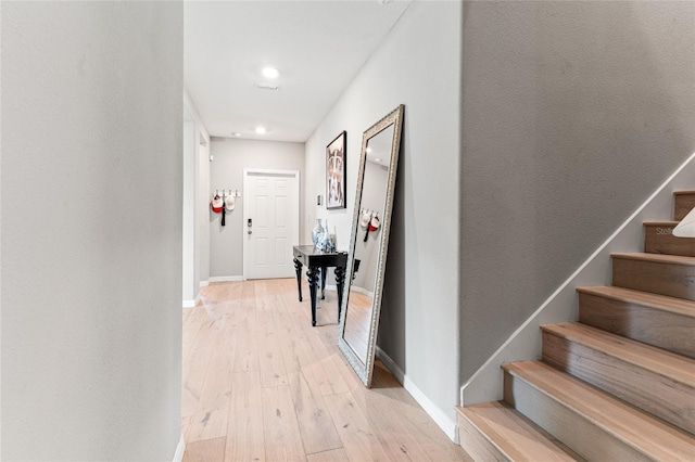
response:
[[[695,318],[580,292],[579,322],[695,358]]]

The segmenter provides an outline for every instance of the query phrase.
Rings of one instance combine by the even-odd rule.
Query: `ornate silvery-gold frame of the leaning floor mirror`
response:
[[[342,354],[350,362],[350,365],[355,370],[356,374],[359,376],[365,386],[371,386],[371,376],[374,373],[374,363],[375,363],[375,354],[377,346],[377,332],[379,329],[379,315],[381,312],[381,298],[383,295],[383,275],[386,272],[387,265],[387,254],[389,251],[389,234],[391,231],[391,215],[393,213],[393,194],[395,190],[395,177],[397,172],[399,165],[399,153],[401,151],[401,131],[403,126],[403,112],[405,106],[401,104],[394,111],[389,113],[381,120],[372,125],[367,131],[364,132],[362,137],[362,155],[359,158],[359,170],[357,174],[357,191],[355,193],[355,207],[353,211],[353,220],[352,220],[352,238],[350,252],[348,255],[348,268],[345,271],[345,285],[344,285],[344,294],[341,307],[341,316],[340,316],[340,330],[338,335],[338,348],[342,351]],[[379,249],[377,257],[377,270],[376,270],[376,280],[374,284],[374,297],[371,305],[371,319],[369,322],[369,335],[367,342],[367,355],[366,361],[357,356],[354,348],[345,341],[345,324],[349,316],[349,301],[350,301],[350,288],[353,283],[353,267],[355,261],[355,244],[357,242],[357,235],[359,234],[359,218],[361,218],[361,207],[362,207],[362,196],[363,196],[363,187],[364,187],[364,178],[365,178],[365,166],[367,162],[367,144],[369,140],[388,129],[390,126],[393,126],[393,138],[391,141],[391,162],[388,172],[388,182],[387,182],[387,196],[386,203],[383,205],[383,214],[380,217],[380,233],[379,236]]]

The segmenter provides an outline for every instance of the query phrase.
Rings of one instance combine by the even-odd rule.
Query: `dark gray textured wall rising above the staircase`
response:
[[[695,152],[695,3],[464,17],[462,383]]]

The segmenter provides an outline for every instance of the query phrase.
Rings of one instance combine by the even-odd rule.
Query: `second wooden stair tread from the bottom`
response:
[[[657,460],[692,460],[695,437],[541,361],[514,362],[504,370],[595,426]]]

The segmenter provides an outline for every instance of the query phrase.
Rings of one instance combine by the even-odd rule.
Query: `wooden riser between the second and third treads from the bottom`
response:
[[[695,433],[695,389],[567,338],[543,333],[543,360]]]

